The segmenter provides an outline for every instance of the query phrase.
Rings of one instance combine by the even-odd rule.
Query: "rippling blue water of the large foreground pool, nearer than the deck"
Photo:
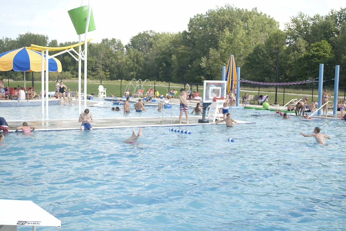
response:
[[[2,199],[34,201],[61,230],[345,230],[345,121],[230,112],[256,123],[144,127],[134,144],[131,128],[8,134]],[[328,145],[299,134],[315,126]]]

